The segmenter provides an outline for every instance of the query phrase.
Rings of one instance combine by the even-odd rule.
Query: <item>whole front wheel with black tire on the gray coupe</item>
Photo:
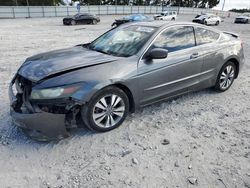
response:
[[[129,99],[119,88],[109,86],[99,91],[81,110],[85,125],[98,132],[119,127],[129,111]]]

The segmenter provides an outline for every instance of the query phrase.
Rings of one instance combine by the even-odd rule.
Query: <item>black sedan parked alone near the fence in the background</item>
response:
[[[64,25],[94,24],[100,22],[100,18],[94,14],[79,13],[74,16],[63,18]]]

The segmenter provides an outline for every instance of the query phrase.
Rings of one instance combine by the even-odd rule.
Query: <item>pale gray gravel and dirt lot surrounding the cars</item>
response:
[[[7,88],[25,58],[91,41],[114,17],[101,19],[69,27],[62,18],[1,20],[0,187],[249,188],[250,25],[232,18],[218,28],[241,35],[246,64],[225,93],[191,93],[146,107],[111,132],[78,129],[59,142],[35,142],[13,126]]]

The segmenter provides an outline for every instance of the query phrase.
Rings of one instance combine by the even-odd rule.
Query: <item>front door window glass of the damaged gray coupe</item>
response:
[[[175,52],[195,46],[194,29],[190,26],[170,28],[161,33],[151,48],[164,48]]]

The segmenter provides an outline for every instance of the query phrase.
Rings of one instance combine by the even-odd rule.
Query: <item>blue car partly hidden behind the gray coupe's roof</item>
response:
[[[153,21],[153,18],[143,14],[133,14],[125,16],[121,19],[116,19],[115,22],[111,25],[112,27],[117,27],[121,24],[128,23],[128,22],[140,22],[140,21]]]

